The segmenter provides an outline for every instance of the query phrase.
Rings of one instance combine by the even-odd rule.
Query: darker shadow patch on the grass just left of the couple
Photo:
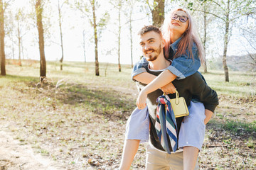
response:
[[[113,89],[88,89],[82,84],[64,86],[56,95],[58,103],[85,108],[87,111],[105,115],[108,118],[126,120],[132,113],[135,100]],[[113,117],[114,116],[114,117]]]

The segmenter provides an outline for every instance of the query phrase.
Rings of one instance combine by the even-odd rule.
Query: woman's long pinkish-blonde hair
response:
[[[169,58],[169,47],[171,45],[171,15],[175,11],[183,11],[187,14],[188,16],[188,28],[186,29],[185,33],[183,33],[181,41],[178,43],[178,49],[176,51],[176,54],[174,55],[175,59],[176,57],[179,57],[181,55],[186,54],[186,49],[188,48],[188,53],[186,54],[188,56],[191,56],[193,59],[193,52],[192,52],[192,47],[193,47],[193,42],[196,44],[196,47],[198,48],[198,57],[201,60],[201,64],[205,64],[205,56],[204,56],[204,49],[203,49],[203,44],[201,40],[198,38],[198,34],[196,31],[196,28],[194,26],[193,18],[191,17],[190,13],[188,11],[182,9],[182,8],[177,8],[174,11],[171,11],[169,15],[164,19],[164,24],[161,26],[161,32],[163,34],[163,38],[166,41],[166,44],[164,46],[164,55],[166,58]]]

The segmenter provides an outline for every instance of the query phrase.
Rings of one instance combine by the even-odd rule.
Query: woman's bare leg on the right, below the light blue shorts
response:
[[[199,149],[196,147],[183,147],[183,169],[193,170],[196,167]]]

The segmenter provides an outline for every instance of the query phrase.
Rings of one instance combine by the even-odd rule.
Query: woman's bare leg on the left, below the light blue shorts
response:
[[[140,140],[125,140],[119,170],[127,170],[130,168],[139,148],[139,142]]]

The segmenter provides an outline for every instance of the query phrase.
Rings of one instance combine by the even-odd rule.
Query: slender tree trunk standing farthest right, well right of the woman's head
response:
[[[227,65],[227,50],[228,50],[228,32],[229,32],[229,13],[230,13],[230,1],[228,0],[228,13],[225,18],[225,37],[224,37],[224,50],[223,50],[223,69],[225,73],[225,81],[229,82],[228,78],[228,65]]]

